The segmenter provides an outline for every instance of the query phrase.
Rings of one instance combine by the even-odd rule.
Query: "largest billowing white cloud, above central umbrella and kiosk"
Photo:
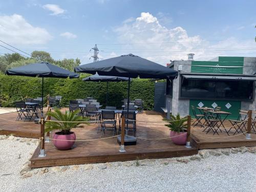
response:
[[[228,29],[226,27],[224,31]],[[122,23],[114,28],[114,32],[120,44],[115,54],[133,53],[162,65],[169,60],[187,59],[188,53],[195,53],[194,58],[200,60],[216,56],[251,56],[253,50],[249,48],[255,47],[253,38],[241,41],[232,37],[216,42],[202,39],[199,35],[189,36],[182,27],[164,27],[150,13],[141,13],[132,22]],[[109,53],[111,51],[109,49]]]

